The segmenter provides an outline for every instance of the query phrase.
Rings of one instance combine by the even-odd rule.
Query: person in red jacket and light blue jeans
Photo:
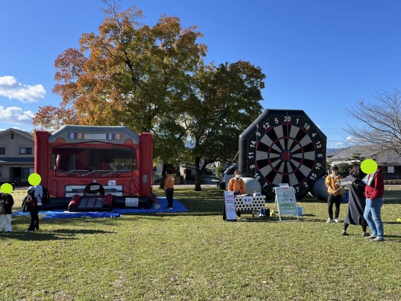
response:
[[[366,206],[363,213],[372,235],[367,236],[370,241],[384,241],[383,222],[381,221],[381,206],[383,206],[384,181],[383,170],[378,167],[373,174],[367,175],[365,197]]]

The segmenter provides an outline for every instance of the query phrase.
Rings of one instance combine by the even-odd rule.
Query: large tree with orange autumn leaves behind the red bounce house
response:
[[[153,134],[156,159],[179,157],[185,131],[175,126],[174,108],[206,54],[197,43],[202,34],[164,15],[153,27],[142,25],[136,7],[120,11],[115,1],[104,3],[99,34],[83,34],[80,49],[55,61],[60,107],[41,107],[34,124],[52,130],[68,123],[125,125]]]

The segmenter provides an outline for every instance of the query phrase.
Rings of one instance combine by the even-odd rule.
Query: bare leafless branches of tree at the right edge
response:
[[[381,91],[349,109],[347,114],[361,125],[348,125],[354,144],[364,145],[372,152],[391,149],[401,155],[401,91]]]

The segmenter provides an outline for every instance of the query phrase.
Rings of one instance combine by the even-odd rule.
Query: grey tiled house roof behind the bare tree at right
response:
[[[358,154],[361,160],[373,159],[377,164],[401,165],[401,156],[392,149],[381,150],[380,152],[368,149],[364,146],[350,146],[337,150],[331,160],[348,161],[352,160],[352,155]]]

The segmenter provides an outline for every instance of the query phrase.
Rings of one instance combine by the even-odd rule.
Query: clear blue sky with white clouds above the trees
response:
[[[0,18],[0,129],[31,131],[39,106],[58,105],[54,60],[98,32],[100,0],[16,0]],[[381,89],[401,88],[401,3],[398,1],[128,1],[143,23],[162,14],[196,25],[206,62],[251,61],[267,75],[265,109],[302,109],[327,135],[328,147],[349,135],[344,113]],[[250,123],[252,120],[250,120]]]

